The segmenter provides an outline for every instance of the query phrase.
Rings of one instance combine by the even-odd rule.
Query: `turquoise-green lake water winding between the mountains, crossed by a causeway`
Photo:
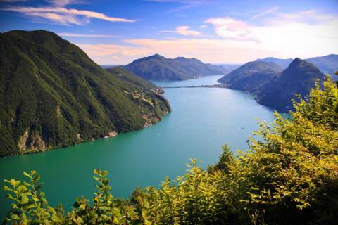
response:
[[[158,86],[216,84],[222,76],[177,82],[154,82]],[[24,179],[23,170],[37,170],[49,204],[62,203],[70,210],[75,197],[92,198],[93,169],[106,169],[112,193],[128,198],[134,188],[158,186],[165,176],[184,174],[189,158],[201,167],[218,160],[221,146],[246,150],[246,140],[258,129],[258,117],[273,121],[273,111],[259,105],[242,91],[217,88],[165,89],[172,113],[161,122],[140,131],[119,134],[77,146],[32,155],[0,158],[1,186],[4,179]],[[0,217],[10,208],[0,191]]]

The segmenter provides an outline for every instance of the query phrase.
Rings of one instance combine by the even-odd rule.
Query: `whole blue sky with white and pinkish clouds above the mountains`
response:
[[[0,32],[55,32],[101,65],[154,53],[206,63],[338,53],[337,0],[0,0],[0,21]]]

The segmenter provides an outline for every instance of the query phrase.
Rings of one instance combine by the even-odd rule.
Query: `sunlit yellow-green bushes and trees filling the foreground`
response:
[[[161,188],[137,189],[129,200],[113,198],[108,172],[94,170],[92,201],[77,198],[65,214],[48,205],[39,174],[6,181],[13,200],[5,224],[334,224],[338,217],[338,88],[327,77],[308,98],[294,102],[289,119],[275,113],[260,124],[258,139],[234,157],[227,146],[208,170]]]

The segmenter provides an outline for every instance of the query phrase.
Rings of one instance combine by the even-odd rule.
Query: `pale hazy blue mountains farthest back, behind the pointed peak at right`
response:
[[[280,65],[281,68],[285,69],[289,66],[292,60],[293,60],[292,58],[281,59],[268,57],[261,58],[256,61],[273,62],[276,63],[277,65]],[[325,75],[330,74],[334,80],[338,79],[337,76],[334,76],[334,72],[338,70],[338,55],[331,54],[327,56],[306,58],[305,60],[308,61],[308,63],[313,63]]]

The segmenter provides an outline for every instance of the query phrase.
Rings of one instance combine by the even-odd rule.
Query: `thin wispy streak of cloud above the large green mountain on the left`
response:
[[[89,23],[91,18],[106,20],[110,22],[132,23],[136,21],[125,18],[113,18],[111,16],[104,15],[103,13],[77,10],[75,8],[8,6],[5,8],[1,8],[1,10],[23,13],[25,15],[30,15],[37,18],[44,18],[46,20],[51,20],[54,23],[61,23],[63,25],[84,25],[86,23]]]

